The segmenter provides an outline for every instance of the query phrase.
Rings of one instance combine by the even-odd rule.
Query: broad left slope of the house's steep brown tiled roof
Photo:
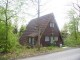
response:
[[[48,14],[48,15],[44,15],[41,16],[38,20],[38,18],[35,18],[33,20],[31,20],[27,26],[27,31],[25,32],[25,34],[28,36],[32,33],[38,33],[38,24],[40,27],[41,32],[44,32],[45,28],[47,27],[48,23],[50,22],[50,20],[54,20],[54,15]],[[34,35],[36,35],[34,34]]]

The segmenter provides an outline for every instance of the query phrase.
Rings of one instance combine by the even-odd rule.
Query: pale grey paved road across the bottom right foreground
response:
[[[18,60],[80,60],[80,48]]]

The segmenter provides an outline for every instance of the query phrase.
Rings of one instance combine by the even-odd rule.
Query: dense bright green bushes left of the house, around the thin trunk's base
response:
[[[18,35],[13,33],[13,27],[9,26],[8,40],[5,38],[5,25],[0,23],[0,28],[0,52],[5,52],[5,49],[9,52],[15,51],[19,47],[19,42]]]

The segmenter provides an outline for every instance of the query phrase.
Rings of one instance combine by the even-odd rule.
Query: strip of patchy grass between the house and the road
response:
[[[37,48],[19,48],[16,51],[12,53],[7,54],[0,54],[0,60],[11,60],[16,58],[24,58],[24,57],[31,57],[31,56],[37,56],[52,52],[58,52],[64,50],[63,48],[49,46],[49,47],[41,47],[40,51],[37,51]]]

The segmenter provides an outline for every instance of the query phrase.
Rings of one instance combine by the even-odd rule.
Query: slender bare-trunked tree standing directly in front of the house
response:
[[[40,7],[43,6],[45,3],[41,4],[41,0],[31,0],[31,1],[32,1],[33,5],[36,5],[36,7],[37,7],[36,8],[36,11],[37,11],[37,27],[36,27],[36,30],[38,31],[37,48],[38,48],[38,51],[40,51],[40,47],[41,47],[40,39],[41,39],[41,36],[44,32],[44,31],[41,31],[41,27],[40,27],[40,23],[39,23],[40,14],[42,13]]]

